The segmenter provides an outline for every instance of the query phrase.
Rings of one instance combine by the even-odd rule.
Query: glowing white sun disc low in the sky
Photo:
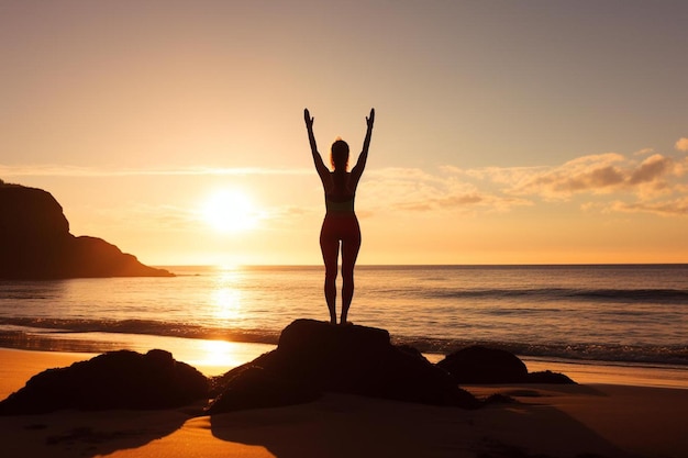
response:
[[[237,233],[255,228],[259,212],[251,197],[233,189],[219,190],[210,194],[201,208],[202,220],[221,233]]]

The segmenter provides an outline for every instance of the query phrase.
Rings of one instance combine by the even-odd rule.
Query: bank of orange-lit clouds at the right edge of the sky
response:
[[[640,160],[639,156],[647,157]],[[509,202],[508,197],[528,199],[513,202],[512,206],[534,204],[539,199],[566,202],[587,198],[590,201],[579,204],[584,212],[687,214],[688,156],[668,157],[651,148],[634,153],[631,158],[607,153],[581,156],[551,167],[460,169],[445,166],[442,171],[473,182],[477,196],[499,197],[490,203]],[[489,194],[484,193],[486,189],[491,190]]]

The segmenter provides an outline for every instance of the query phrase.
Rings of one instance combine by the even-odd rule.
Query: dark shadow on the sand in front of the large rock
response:
[[[263,446],[277,458],[628,456],[555,407],[521,403],[462,410],[326,394],[210,422],[213,436]]]

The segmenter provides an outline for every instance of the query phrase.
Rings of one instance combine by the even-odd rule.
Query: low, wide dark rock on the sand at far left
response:
[[[206,376],[168,351],[120,350],[32,377],[0,402],[0,414],[178,407],[207,399],[208,388]]]

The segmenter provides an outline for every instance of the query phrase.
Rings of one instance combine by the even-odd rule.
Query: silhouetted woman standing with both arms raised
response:
[[[334,170],[330,171],[323,164],[320,153],[318,153],[315,136],[313,135],[313,118],[311,118],[308,109],[303,110],[303,118],[315,170],[318,170],[325,191],[326,213],[320,231],[320,249],[325,261],[325,300],[328,309],[330,309],[330,322],[336,324],[336,275],[341,243],[342,315],[340,323],[346,324],[346,315],[354,297],[354,265],[358,256],[358,248],[360,248],[360,227],[358,226],[356,213],[354,213],[354,197],[358,180],[360,180],[363,169],[366,167],[366,160],[368,159],[375,109],[370,109],[370,115],[366,118],[368,130],[363,142],[363,150],[351,172],[346,171],[348,167],[348,145],[346,142],[337,138],[332,144],[330,159]]]

